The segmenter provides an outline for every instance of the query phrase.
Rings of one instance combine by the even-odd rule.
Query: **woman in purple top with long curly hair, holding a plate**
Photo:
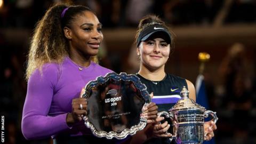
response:
[[[82,87],[111,70],[98,65],[102,25],[85,6],[57,4],[37,23],[28,55],[28,89],[22,114],[26,139],[52,137],[54,143],[120,143],[96,138],[83,124],[87,101]],[[81,91],[82,89],[82,91]],[[148,122],[156,118],[150,103]],[[146,134],[141,131],[140,134]],[[141,135],[140,135],[141,136]],[[130,137],[134,142],[143,137]]]

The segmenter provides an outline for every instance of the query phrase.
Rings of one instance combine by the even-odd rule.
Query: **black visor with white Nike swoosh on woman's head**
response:
[[[139,37],[137,39],[137,47],[139,47],[139,44],[141,41],[146,41],[150,36],[156,33],[163,34],[164,40],[168,44],[171,43],[171,34],[169,33],[169,31],[165,29],[163,26],[157,24],[157,25],[149,26],[140,32]]]

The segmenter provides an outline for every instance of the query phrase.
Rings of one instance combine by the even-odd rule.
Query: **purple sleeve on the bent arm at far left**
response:
[[[51,107],[54,85],[57,83],[57,68],[43,68],[30,76],[23,107],[21,130],[26,139],[41,139],[69,129],[67,114],[47,116]]]

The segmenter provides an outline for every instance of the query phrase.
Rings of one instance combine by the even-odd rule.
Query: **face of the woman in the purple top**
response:
[[[86,57],[97,55],[103,40],[101,23],[95,14],[84,11],[77,14],[71,26],[64,28],[65,36],[69,39],[70,56]]]

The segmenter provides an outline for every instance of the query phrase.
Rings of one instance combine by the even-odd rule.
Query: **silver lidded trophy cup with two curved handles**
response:
[[[206,110],[194,100],[188,98],[189,91],[184,86],[181,95],[183,96],[171,109],[169,113],[161,111],[158,117],[170,118],[173,125],[173,136],[177,143],[203,143],[207,133],[204,132],[204,118],[209,114],[216,123],[218,117],[215,112]]]

